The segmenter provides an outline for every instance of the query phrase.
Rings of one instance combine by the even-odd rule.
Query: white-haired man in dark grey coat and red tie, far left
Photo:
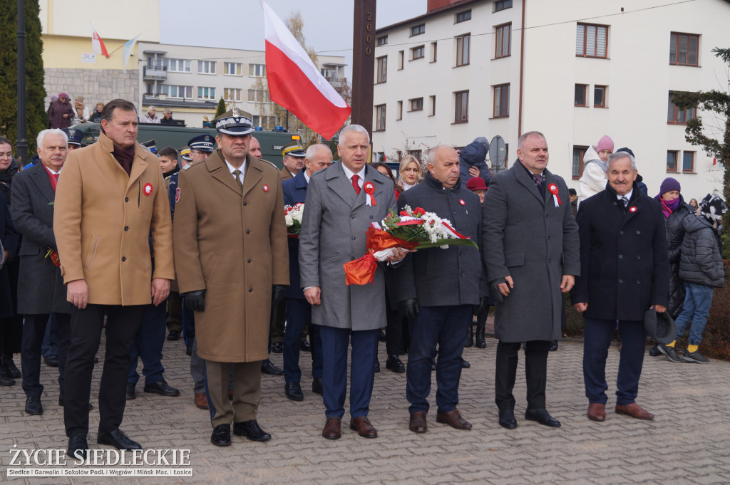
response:
[[[71,335],[71,308],[66,301],[66,287],[58,268],[58,252],[53,236],[53,202],[58,175],[66,161],[66,133],[54,128],[38,135],[41,163],[21,171],[12,185],[11,212],[20,245],[18,277],[18,314],[25,317],[20,362],[23,367],[23,391],[26,413],[43,414],[40,383],[41,344],[46,323],[54,314],[58,325],[58,397],[64,400],[66,349]]]

